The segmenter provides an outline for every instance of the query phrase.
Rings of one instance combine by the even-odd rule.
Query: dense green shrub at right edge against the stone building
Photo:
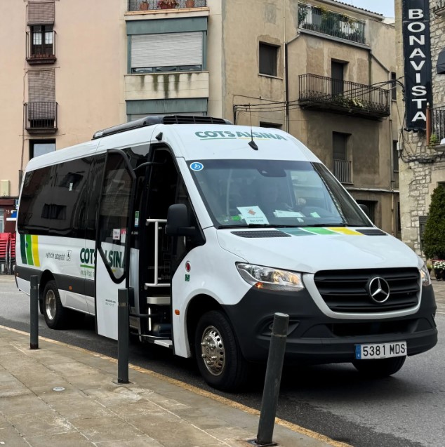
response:
[[[445,187],[438,186],[431,196],[430,211],[422,239],[423,253],[432,260],[434,274],[441,276],[445,268]]]

